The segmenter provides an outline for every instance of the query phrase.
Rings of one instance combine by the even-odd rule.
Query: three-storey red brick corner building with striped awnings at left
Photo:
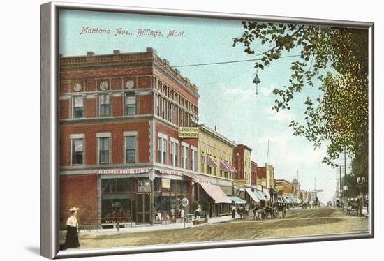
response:
[[[60,221],[166,223],[193,200],[198,88],[152,48],[60,58]],[[195,182],[193,182],[195,181]],[[191,204],[186,213],[191,211]]]

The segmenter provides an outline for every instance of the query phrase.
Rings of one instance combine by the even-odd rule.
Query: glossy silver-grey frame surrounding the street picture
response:
[[[368,211],[369,229],[367,232],[324,234],[270,239],[242,239],[228,241],[202,241],[166,245],[125,246],[122,248],[95,248],[75,251],[60,251],[60,52],[59,15],[61,10],[76,10],[100,13],[134,15],[158,15],[165,17],[184,17],[195,19],[214,19],[232,21],[257,21],[271,23],[291,23],[321,25],[324,27],[353,27],[365,29],[368,33],[369,70],[369,171],[367,198],[371,207]],[[205,248],[226,248],[236,246],[258,246],[265,244],[290,244],[297,242],[331,241],[344,239],[364,239],[374,237],[374,24],[371,22],[347,22],[337,20],[318,20],[295,17],[272,17],[228,13],[198,12],[189,10],[163,10],[125,6],[108,6],[83,3],[50,2],[41,6],[41,241],[40,253],[46,258],[75,258],[98,255],[119,255],[129,253],[149,253],[161,251],[182,251]],[[111,84],[111,83],[109,83]],[[105,84],[104,84],[105,85]],[[103,88],[108,88],[104,86]],[[108,82],[107,82],[108,85]],[[112,85],[112,84],[111,84]],[[130,83],[126,82],[126,89]],[[125,87],[125,86],[124,86]],[[75,88],[75,87],[74,87]],[[102,89],[103,90],[103,89]],[[73,112],[74,113],[74,112]],[[215,130],[216,131],[216,130]],[[188,133],[187,133],[188,134]],[[191,134],[188,134],[191,135]],[[49,138],[47,138],[49,137]],[[125,155],[125,154],[124,154]],[[100,155],[98,155],[100,158]],[[316,182],[316,181],[315,181]],[[164,187],[170,187],[164,181]],[[316,185],[315,185],[316,187]],[[316,188],[315,188],[316,189]],[[145,218],[145,214],[144,217]]]

